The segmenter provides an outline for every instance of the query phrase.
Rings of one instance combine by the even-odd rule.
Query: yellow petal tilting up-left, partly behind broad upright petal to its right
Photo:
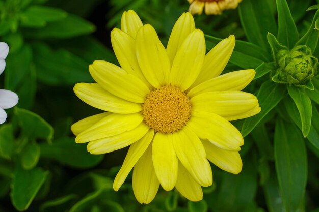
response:
[[[146,85],[151,87],[140,69],[136,57],[135,40],[120,29],[114,28],[111,32],[111,42],[116,58],[122,69],[129,74],[134,74]]]

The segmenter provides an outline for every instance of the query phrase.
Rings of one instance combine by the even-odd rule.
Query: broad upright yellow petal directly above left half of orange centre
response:
[[[146,24],[136,36],[136,54],[139,65],[151,85],[159,88],[169,84],[170,60],[155,29]]]

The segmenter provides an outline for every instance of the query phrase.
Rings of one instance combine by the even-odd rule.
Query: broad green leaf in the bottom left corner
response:
[[[23,170],[16,167],[11,184],[11,201],[13,206],[23,211],[28,209],[32,200],[45,181],[47,172],[40,168]]]

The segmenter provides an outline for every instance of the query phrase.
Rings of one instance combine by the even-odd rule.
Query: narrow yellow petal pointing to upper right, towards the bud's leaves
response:
[[[226,67],[234,47],[235,37],[231,35],[212,48],[205,56],[203,68],[192,87],[219,76]]]

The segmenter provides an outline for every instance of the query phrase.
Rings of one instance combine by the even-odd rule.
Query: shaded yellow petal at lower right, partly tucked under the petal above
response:
[[[202,140],[206,150],[207,159],[224,171],[238,174],[242,171],[243,162],[237,151],[218,148],[208,140]]]

